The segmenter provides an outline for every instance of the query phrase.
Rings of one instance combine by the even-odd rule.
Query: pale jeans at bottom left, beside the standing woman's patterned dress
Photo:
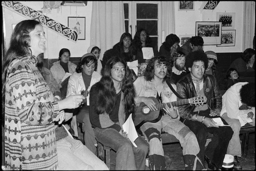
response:
[[[69,136],[56,141],[59,170],[109,170],[81,141]]]

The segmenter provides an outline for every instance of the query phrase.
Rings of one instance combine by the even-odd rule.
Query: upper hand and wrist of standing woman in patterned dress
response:
[[[63,100],[58,101],[59,110],[78,108],[83,99],[85,99],[85,97],[80,94],[68,96]]]

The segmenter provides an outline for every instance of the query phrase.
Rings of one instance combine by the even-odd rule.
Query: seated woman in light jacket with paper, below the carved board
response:
[[[59,60],[57,62],[54,62],[53,66],[50,69],[58,84],[61,84],[66,77],[70,76],[72,73],[75,72],[75,68],[77,66],[76,64],[70,62],[69,58],[70,51],[66,48],[61,49],[59,53]]]

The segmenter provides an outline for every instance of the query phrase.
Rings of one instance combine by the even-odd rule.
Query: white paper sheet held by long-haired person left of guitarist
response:
[[[137,147],[134,141],[138,138],[137,131],[135,129],[134,123],[132,121],[132,114],[128,117],[128,119],[123,124],[123,130],[128,134],[128,138],[132,142],[132,144]]]

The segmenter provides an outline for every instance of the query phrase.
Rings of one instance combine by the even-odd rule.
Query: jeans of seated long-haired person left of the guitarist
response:
[[[131,141],[123,137],[113,128],[94,128],[96,139],[116,151],[115,170],[145,170],[148,145],[139,137],[134,141],[138,146],[133,146]]]

